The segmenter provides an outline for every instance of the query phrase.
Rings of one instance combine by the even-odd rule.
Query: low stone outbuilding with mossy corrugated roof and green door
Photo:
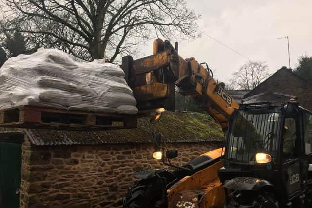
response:
[[[147,121],[98,132],[1,128],[0,207],[121,207],[134,172],[164,168],[152,158]],[[167,112],[152,129],[178,149],[177,165],[222,145],[223,132],[207,114]]]

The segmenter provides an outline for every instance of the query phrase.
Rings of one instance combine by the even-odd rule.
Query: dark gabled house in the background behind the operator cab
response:
[[[282,67],[253,90],[227,92],[238,104],[271,102],[273,105],[281,105],[294,98],[299,105],[312,110],[311,91],[312,83],[298,76],[291,69]]]

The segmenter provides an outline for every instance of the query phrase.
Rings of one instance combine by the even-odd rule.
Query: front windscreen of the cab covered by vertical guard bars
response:
[[[237,110],[228,133],[228,164],[257,165],[257,153],[270,155],[269,162],[276,161],[281,126],[280,107],[246,106]]]

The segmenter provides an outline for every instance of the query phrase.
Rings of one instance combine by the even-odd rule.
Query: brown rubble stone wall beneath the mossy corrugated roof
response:
[[[179,151],[172,160],[178,165],[218,146],[168,144]],[[38,147],[26,138],[22,151],[21,208],[122,207],[134,172],[164,168],[152,158],[152,144]]]

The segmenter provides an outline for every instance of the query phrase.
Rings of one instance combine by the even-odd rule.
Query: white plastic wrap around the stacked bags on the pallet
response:
[[[103,113],[136,114],[137,101],[118,66],[84,62],[39,49],[7,60],[0,69],[0,109],[20,105]]]

